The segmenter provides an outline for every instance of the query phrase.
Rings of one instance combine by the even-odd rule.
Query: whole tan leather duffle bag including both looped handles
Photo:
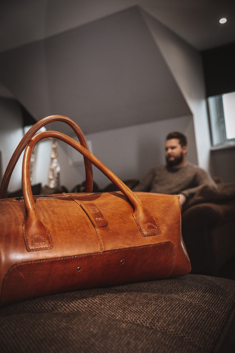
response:
[[[70,125],[80,143],[56,131],[35,134],[57,120]],[[83,154],[85,193],[32,195],[32,150],[48,137]],[[5,198],[25,146],[23,197]],[[90,162],[120,191],[93,193]],[[177,277],[191,270],[181,234],[179,197],[133,193],[89,152],[84,134],[65,116],[49,116],[29,130],[8,164],[0,193],[1,305],[77,289]]]

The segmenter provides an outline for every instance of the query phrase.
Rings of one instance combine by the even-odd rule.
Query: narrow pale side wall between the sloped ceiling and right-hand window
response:
[[[210,169],[210,131],[200,53],[149,14],[143,17],[193,114],[198,164]]]

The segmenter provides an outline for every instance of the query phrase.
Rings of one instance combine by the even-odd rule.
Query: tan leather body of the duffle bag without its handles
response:
[[[36,197],[38,219],[53,245],[40,251],[26,250],[23,200],[0,200],[2,303],[190,271],[177,196],[138,194],[161,229],[161,234],[147,237],[141,235],[133,207],[121,193],[71,196]],[[125,266],[120,267],[121,261]]]

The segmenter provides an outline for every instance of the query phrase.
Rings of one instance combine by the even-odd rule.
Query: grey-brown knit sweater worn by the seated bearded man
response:
[[[182,193],[192,197],[204,185],[216,188],[216,183],[201,169],[193,164],[180,168],[163,165],[152,168],[133,191],[150,191],[164,194]]]

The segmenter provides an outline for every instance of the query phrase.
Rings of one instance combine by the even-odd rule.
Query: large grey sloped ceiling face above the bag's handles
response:
[[[1,53],[0,81],[36,120],[85,134],[191,114],[137,6]]]

